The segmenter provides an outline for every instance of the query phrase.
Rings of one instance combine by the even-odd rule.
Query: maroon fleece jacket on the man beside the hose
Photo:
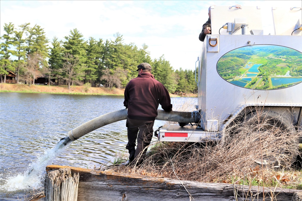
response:
[[[154,121],[159,104],[165,111],[172,110],[168,90],[151,73],[140,73],[130,80],[124,97],[124,106],[128,108],[130,119]]]

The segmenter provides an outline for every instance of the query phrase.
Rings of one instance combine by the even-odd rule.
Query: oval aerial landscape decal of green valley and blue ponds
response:
[[[275,45],[241,47],[218,60],[217,72],[236,86],[282,89],[302,82],[302,53]]]

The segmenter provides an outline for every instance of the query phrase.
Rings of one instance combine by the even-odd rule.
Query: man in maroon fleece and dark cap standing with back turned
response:
[[[137,66],[138,77],[130,80],[125,88],[124,106],[128,108],[126,121],[129,150],[129,162],[142,152],[142,162],[153,136],[153,124],[157,117],[159,104],[165,111],[172,110],[168,90],[151,74],[151,65],[142,63]],[[138,132],[139,131],[139,132]],[[138,135],[137,135],[138,134]],[[137,139],[137,149],[135,143]]]

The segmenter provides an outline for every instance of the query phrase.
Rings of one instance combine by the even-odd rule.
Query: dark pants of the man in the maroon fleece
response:
[[[147,149],[153,137],[154,121],[136,120],[127,118],[126,127],[128,133],[128,144],[126,149],[129,150],[130,162],[136,158],[143,151],[141,158],[145,156]],[[138,134],[138,135],[137,135]],[[135,143],[137,139],[137,148],[135,150]],[[135,151],[135,152],[134,152]],[[134,157],[133,157],[134,154]]]

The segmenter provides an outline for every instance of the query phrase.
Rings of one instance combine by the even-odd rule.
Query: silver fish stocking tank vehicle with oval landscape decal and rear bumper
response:
[[[155,135],[162,142],[219,144],[248,126],[245,139],[256,132],[259,142],[269,133],[296,135],[279,150],[294,159],[302,127],[302,8],[272,7],[275,33],[268,35],[259,6],[210,9],[211,34],[195,63],[196,111],[188,122],[165,124]],[[268,154],[261,163],[281,160]]]

